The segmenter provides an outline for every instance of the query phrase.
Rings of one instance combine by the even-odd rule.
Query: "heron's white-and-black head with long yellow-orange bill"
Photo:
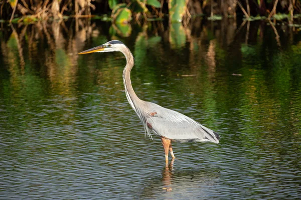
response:
[[[86,53],[93,53],[93,52],[121,51],[124,46],[125,46],[125,44],[119,40],[111,40],[102,45],[96,46],[94,48],[84,50],[78,54],[86,54]]]

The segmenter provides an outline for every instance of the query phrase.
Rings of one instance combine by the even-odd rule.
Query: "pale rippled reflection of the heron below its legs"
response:
[[[149,174],[143,178],[139,198],[149,199],[187,199],[187,192],[190,199],[211,199],[212,192],[220,184],[220,168],[205,164],[202,166],[191,167],[180,159],[174,159],[170,163],[161,166],[158,175],[148,178]],[[217,185],[217,186],[216,186]],[[204,199],[204,198],[203,198]]]

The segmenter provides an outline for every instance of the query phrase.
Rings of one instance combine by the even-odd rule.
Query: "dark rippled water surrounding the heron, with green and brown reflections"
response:
[[[279,37],[276,37],[276,35]],[[266,21],[97,20],[3,25],[0,198],[298,199],[301,31]],[[180,111],[219,144],[144,137],[119,52],[77,53],[110,39],[133,52],[143,100]]]

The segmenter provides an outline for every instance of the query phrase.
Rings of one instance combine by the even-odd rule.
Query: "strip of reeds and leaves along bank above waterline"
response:
[[[209,20],[287,20],[301,16],[300,0],[1,0],[0,22],[35,22],[70,17],[93,17],[114,23],[143,20],[183,22],[206,16]]]

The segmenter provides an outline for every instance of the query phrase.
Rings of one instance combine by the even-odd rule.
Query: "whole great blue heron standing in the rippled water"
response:
[[[126,58],[126,65],[123,69],[123,84],[126,98],[141,119],[144,130],[150,138],[150,131],[161,137],[165,151],[165,160],[168,161],[168,153],[173,158],[172,141],[212,141],[218,143],[220,136],[213,130],[201,125],[192,118],[177,111],[162,107],[156,103],[147,102],[138,98],[130,81],[130,70],[134,65],[134,57],[129,48],[119,40],[108,41],[100,46],[90,48],[78,54],[92,52],[120,51]]]

